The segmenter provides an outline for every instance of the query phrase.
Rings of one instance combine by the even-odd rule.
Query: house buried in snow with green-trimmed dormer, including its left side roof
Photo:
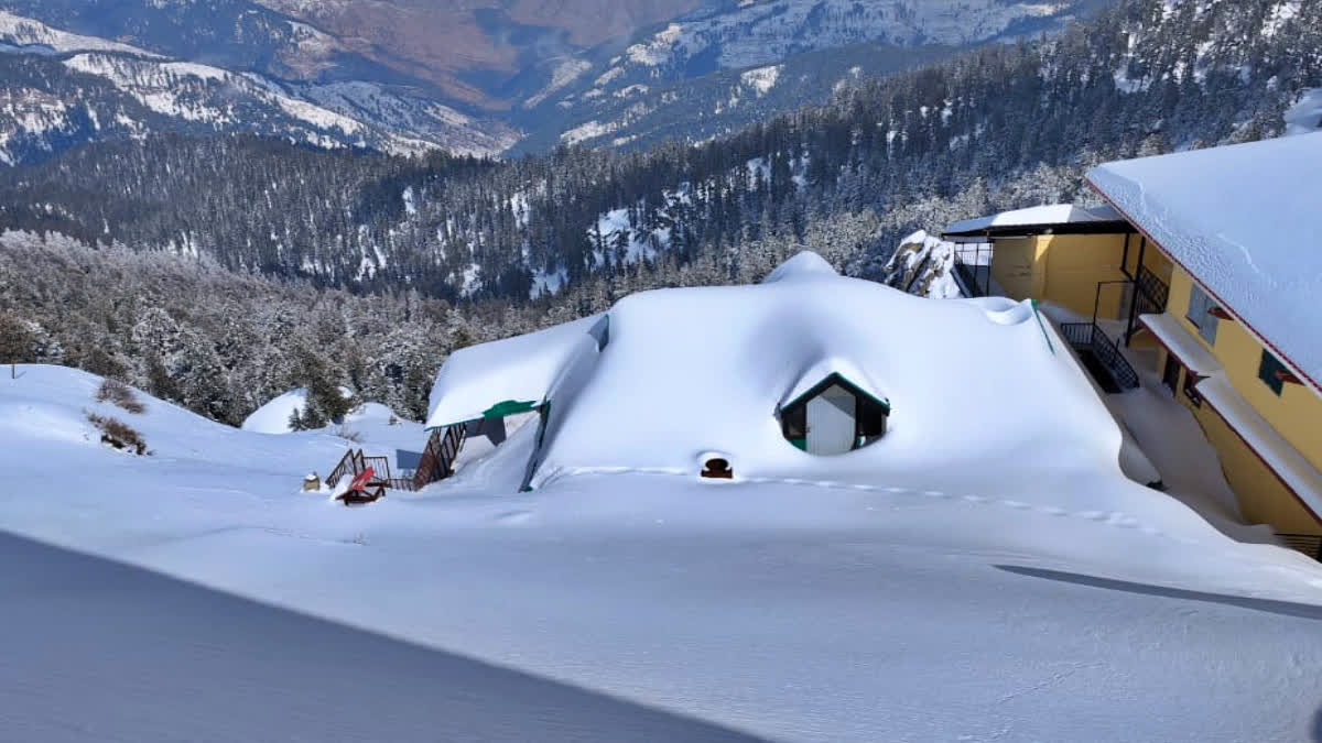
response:
[[[641,292],[461,349],[427,426],[527,411],[525,488],[625,471],[875,484],[994,465],[1007,489],[1043,468],[1121,473],[1118,426],[1030,303],[928,301],[812,253],[760,284]]]

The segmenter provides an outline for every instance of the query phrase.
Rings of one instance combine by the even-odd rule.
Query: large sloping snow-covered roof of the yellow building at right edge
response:
[[[1092,186],[1318,390],[1322,135],[1109,163]]]

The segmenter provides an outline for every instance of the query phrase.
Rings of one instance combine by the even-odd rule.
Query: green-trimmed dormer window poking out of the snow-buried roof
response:
[[[886,435],[891,403],[833,373],[781,405],[781,434],[808,453],[833,456]]]

